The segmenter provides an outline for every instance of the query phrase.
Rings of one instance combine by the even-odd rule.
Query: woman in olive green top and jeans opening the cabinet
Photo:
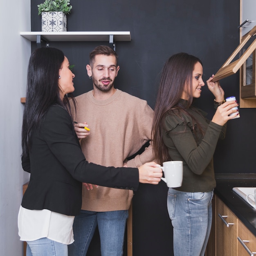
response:
[[[204,82],[202,62],[179,53],[165,63],[153,120],[153,150],[157,162],[183,162],[183,181],[169,188],[168,213],[173,225],[175,256],[203,256],[211,230],[211,198],[216,186],[213,153],[218,139],[225,137],[226,122],[236,112],[236,101],[225,102],[224,91],[213,76],[207,86],[213,93],[216,113],[212,120],[192,105]]]

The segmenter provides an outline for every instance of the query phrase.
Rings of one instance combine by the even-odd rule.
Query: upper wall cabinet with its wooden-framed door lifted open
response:
[[[240,0],[240,44],[213,78],[218,81],[240,70],[240,108],[256,108],[255,7],[255,0]]]

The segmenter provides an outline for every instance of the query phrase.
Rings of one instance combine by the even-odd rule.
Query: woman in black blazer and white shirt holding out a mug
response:
[[[43,47],[31,54],[22,125],[22,167],[31,175],[18,216],[27,256],[67,256],[74,216],[81,209],[82,182],[136,190],[139,182],[158,184],[162,177],[155,162],[138,169],[86,161],[67,99],[74,91],[73,78],[60,50]]]

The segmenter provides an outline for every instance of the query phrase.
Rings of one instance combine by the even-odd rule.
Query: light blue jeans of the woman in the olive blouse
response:
[[[213,191],[182,192],[169,188],[167,208],[173,225],[175,256],[204,256],[211,231]]]

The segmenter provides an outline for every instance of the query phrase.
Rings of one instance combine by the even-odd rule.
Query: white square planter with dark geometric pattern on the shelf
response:
[[[42,31],[67,31],[67,16],[62,11],[42,12]]]

